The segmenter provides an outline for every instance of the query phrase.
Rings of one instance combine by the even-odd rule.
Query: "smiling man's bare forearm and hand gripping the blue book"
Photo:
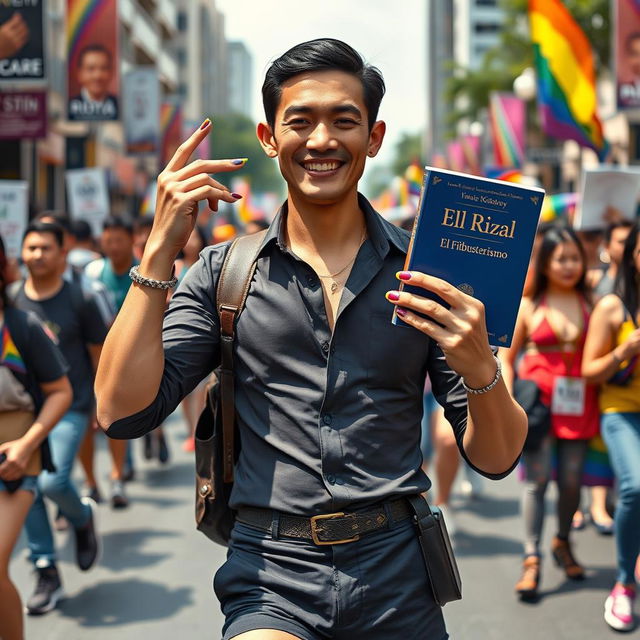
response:
[[[468,387],[480,389],[489,385],[496,377],[497,364],[489,346],[484,305],[440,278],[416,271],[405,278],[404,273],[401,278],[404,282],[438,294],[450,308],[408,292],[396,292],[398,299],[391,302],[397,305],[402,319],[438,343],[447,364],[462,376]],[[513,466],[522,452],[527,434],[526,414],[502,379],[487,393],[467,395],[465,453],[478,469],[501,474]]]

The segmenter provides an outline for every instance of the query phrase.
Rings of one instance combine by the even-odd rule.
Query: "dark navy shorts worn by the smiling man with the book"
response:
[[[332,546],[236,523],[214,591],[224,640],[253,629],[302,640],[449,637],[410,519]]]

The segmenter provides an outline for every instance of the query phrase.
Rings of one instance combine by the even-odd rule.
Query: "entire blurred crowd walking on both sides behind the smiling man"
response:
[[[151,224],[146,218],[136,224],[109,218],[96,241],[85,221],[47,212],[29,224],[20,264],[8,262],[3,251],[2,410],[16,418],[26,414],[28,421],[34,414],[36,418],[24,436],[0,445],[3,486],[10,488],[27,474],[19,485],[22,491],[0,493],[8,516],[0,528],[2,638],[22,637],[22,607],[8,564],[23,525],[36,576],[26,611],[46,613],[63,596],[45,501],[57,507],[53,528],[73,529],[82,571],[89,570],[100,553],[100,535],[93,524],[96,505],[108,500],[114,509],[129,506],[125,483],[135,476],[130,442],[108,439],[108,494],[97,480],[91,381],[108,327],[130,286],[129,269],[139,262]],[[254,221],[250,231],[265,226]],[[513,344],[501,353],[508,384],[516,378],[533,380],[551,408],[548,436],[525,450],[521,461],[524,559],[515,590],[523,599],[538,594],[545,493],[555,480],[552,557],[568,579],[581,580],[585,571],[571,545],[572,530],[590,518],[601,534],[615,533],[618,576],[606,599],[605,619],[625,630],[633,624],[635,582],[640,577],[640,376],[634,375],[640,354],[640,227],[621,220],[597,234],[598,242],[592,237],[583,242],[581,235],[566,225],[540,227]],[[179,280],[213,241],[207,229],[194,228],[176,262]],[[595,256],[585,251],[590,245]],[[16,385],[16,375],[23,387]],[[558,387],[573,383],[578,384],[577,405],[568,401],[564,406],[564,387]],[[204,396],[205,382],[181,404],[185,451],[194,449]],[[424,426],[425,467],[432,458],[436,474],[434,502],[447,513],[459,453],[429,392]],[[144,455],[155,455],[160,463],[169,460],[161,428],[145,436]],[[72,480],[76,459],[84,476],[81,490]],[[481,491],[479,476],[468,467],[467,472],[463,492]],[[580,504],[585,498],[588,506]],[[455,529],[454,514],[448,521]]]

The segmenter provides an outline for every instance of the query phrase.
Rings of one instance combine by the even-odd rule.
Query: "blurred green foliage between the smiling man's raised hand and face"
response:
[[[256,138],[256,129],[250,118],[238,113],[211,118],[211,155],[214,158],[249,158],[239,175],[248,178],[256,192],[281,193],[284,183],[276,161],[267,158]],[[224,176],[222,179],[224,183]]]

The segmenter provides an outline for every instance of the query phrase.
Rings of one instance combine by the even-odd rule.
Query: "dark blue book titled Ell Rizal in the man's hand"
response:
[[[405,271],[482,301],[489,343],[510,346],[543,199],[538,187],[425,167]],[[421,287],[400,288],[448,307]],[[407,326],[395,309],[392,322]]]

